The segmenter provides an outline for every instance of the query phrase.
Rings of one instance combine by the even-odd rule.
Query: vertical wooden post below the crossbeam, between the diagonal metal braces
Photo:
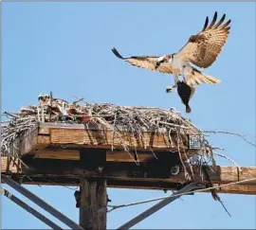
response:
[[[88,230],[106,229],[106,180],[82,179],[80,192],[80,225]]]

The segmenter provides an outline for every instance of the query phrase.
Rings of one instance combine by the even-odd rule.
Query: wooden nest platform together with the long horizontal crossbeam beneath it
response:
[[[141,138],[95,126],[40,123],[19,140],[19,154],[27,167],[18,160],[1,157],[1,172],[29,185],[78,186],[82,178],[101,177],[109,187],[173,190],[190,183],[182,168],[176,175],[171,173],[180,164],[178,150],[186,158],[199,149],[190,147],[187,133],[181,133],[181,139],[171,134],[171,140],[167,133],[145,132]],[[123,150],[124,146],[132,156]],[[193,182],[208,183],[200,176],[199,167],[192,168]],[[209,173],[213,185],[226,185],[255,178],[256,168],[242,168],[239,174],[235,167],[216,167]],[[256,195],[256,181],[218,191]]]

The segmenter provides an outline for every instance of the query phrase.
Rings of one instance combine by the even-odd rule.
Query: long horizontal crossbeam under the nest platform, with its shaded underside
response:
[[[3,174],[10,173],[17,180],[23,178],[22,183],[29,185],[77,186],[81,185],[81,178],[105,178],[110,187],[140,189],[175,189],[180,183],[186,183],[183,171],[175,176],[171,173],[161,175],[157,168],[145,168],[143,165],[136,166],[134,163],[106,162],[102,171],[99,171],[99,168],[82,168],[81,164],[76,161],[31,159],[30,162],[26,162],[29,168],[22,167],[20,169],[15,167],[15,165],[19,165],[18,162],[15,164],[7,164],[7,162],[8,158],[2,157],[1,172]],[[8,165],[11,167],[6,168]],[[198,166],[192,168],[195,181],[207,182],[205,178],[202,179],[199,176],[200,168]],[[255,167],[241,169],[242,172],[239,174],[236,167],[216,167],[214,172],[209,170],[210,181],[215,185],[225,185],[256,178]],[[23,175],[27,175],[33,181]],[[256,181],[222,187],[219,192],[256,195]]]

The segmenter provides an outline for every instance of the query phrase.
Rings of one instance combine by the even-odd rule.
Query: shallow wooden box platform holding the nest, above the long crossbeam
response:
[[[46,158],[49,155],[53,159],[70,159],[68,154],[62,154],[63,150],[81,150],[82,148],[96,148],[103,150],[120,150],[123,146],[129,150],[138,151],[177,151],[178,147],[181,154],[192,156],[199,150],[191,150],[189,146],[189,134],[180,133],[181,138],[178,143],[176,133],[171,133],[171,139],[168,133],[159,133],[145,131],[141,135],[126,131],[116,131],[105,129],[100,126],[89,125],[68,125],[55,123],[39,123],[33,127],[21,139],[20,151],[22,155],[32,154],[37,158]],[[54,153],[54,154],[53,154]],[[74,153],[73,160],[77,160]],[[119,160],[116,157],[116,161]],[[130,159],[131,161],[131,159]]]

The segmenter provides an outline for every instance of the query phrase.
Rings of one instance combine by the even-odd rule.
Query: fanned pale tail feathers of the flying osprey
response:
[[[221,80],[214,78],[210,75],[204,74],[196,69],[193,69],[189,78],[187,78],[187,83],[190,85],[194,85],[194,84],[200,85],[202,83],[218,84],[220,82],[221,82]]]

